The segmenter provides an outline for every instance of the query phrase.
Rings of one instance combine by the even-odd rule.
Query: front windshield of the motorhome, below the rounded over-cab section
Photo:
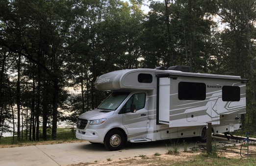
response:
[[[129,92],[113,92],[99,105],[98,109],[116,110],[129,94]]]

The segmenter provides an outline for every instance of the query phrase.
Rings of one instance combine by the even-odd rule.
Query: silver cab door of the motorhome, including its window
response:
[[[146,93],[134,93],[124,104],[121,114],[123,114],[123,124],[128,131],[128,140],[145,139],[147,134],[148,110],[146,106]],[[136,112],[133,113],[131,108]]]

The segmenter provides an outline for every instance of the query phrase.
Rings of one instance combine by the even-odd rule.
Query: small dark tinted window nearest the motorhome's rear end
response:
[[[223,101],[240,101],[240,87],[238,86],[223,86],[222,87]]]

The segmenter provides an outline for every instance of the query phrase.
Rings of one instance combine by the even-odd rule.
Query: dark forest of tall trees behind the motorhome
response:
[[[98,76],[176,65],[248,79],[256,133],[255,21],[256,0],[0,0],[0,138],[55,140],[106,97]]]

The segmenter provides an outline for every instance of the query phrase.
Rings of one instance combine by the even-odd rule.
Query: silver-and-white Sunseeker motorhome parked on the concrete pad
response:
[[[184,137],[205,142],[206,122],[214,134],[241,127],[246,81],[192,73],[181,66],[109,72],[98,77],[95,86],[111,95],[78,117],[76,137],[104,143],[108,150],[119,150],[126,142]]]

